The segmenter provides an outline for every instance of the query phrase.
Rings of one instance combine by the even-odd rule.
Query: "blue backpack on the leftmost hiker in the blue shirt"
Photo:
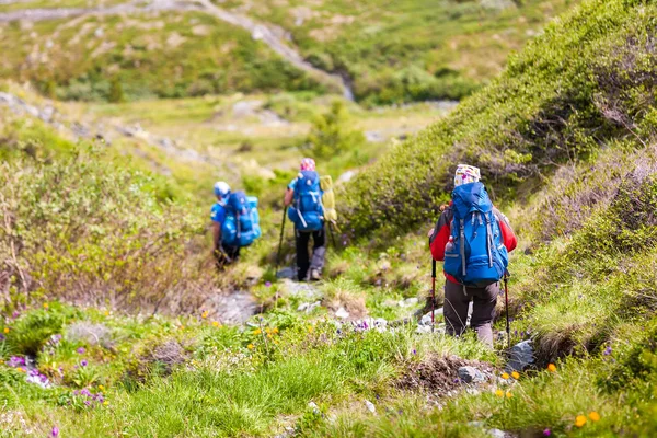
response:
[[[249,246],[261,237],[257,198],[244,192],[231,193],[226,199],[226,220],[221,242],[227,246]]]

